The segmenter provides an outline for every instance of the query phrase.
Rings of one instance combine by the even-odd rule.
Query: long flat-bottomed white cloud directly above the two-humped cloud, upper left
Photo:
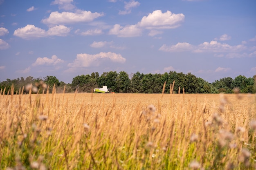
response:
[[[91,22],[95,18],[103,16],[104,13],[92,13],[91,11],[76,11],[73,12],[52,12],[49,18],[42,20],[44,24],[74,24],[77,22]]]

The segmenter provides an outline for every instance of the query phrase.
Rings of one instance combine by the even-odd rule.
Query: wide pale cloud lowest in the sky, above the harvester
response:
[[[110,59],[112,62],[124,63],[126,59],[122,57],[121,54],[116,54],[112,52],[108,53],[98,53],[98,54],[77,54],[76,59],[73,63],[69,63],[67,66],[69,67],[89,67],[91,65],[99,65],[99,62],[103,59]]]

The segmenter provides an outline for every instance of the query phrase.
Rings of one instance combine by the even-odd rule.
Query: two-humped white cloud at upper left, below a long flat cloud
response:
[[[64,26],[64,25],[56,25],[52,28],[49,28],[48,31],[45,31],[44,29],[40,29],[34,25],[27,25],[22,28],[18,28],[14,31],[13,35],[29,39],[29,38],[42,38],[47,36],[66,36],[70,32],[70,28]]]

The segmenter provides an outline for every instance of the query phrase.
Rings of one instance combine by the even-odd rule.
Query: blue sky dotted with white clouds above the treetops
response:
[[[0,81],[256,74],[255,0],[0,0]]]

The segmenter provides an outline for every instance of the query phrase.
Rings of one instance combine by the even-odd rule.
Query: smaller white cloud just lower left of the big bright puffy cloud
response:
[[[117,35],[118,37],[138,37],[141,33],[142,29],[138,28],[137,25],[120,26],[115,24],[109,31],[110,35]]]

